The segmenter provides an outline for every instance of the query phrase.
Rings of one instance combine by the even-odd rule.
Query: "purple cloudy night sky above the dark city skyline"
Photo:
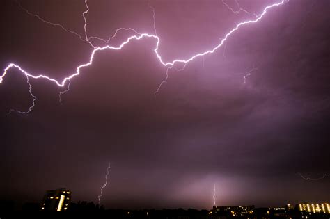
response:
[[[19,2],[84,37],[83,0]],[[239,0],[256,13],[275,2]],[[63,80],[88,62],[93,48],[76,35],[15,1],[0,4],[1,74],[17,63]],[[150,5],[165,61],[211,49],[236,24],[255,19],[221,0]],[[88,6],[89,36],[108,38],[120,27],[155,32],[148,1]],[[30,79],[38,99],[27,115],[8,115],[33,100],[24,75],[11,69],[0,84],[0,199],[41,202],[45,190],[65,187],[74,202],[97,202],[110,162],[107,208],[211,209],[214,184],[219,206],[329,202],[330,177],[298,174],[330,173],[329,9],[327,0],[272,8],[230,35],[226,47],[169,70],[156,97],[166,67],[152,38],[97,52],[72,79],[63,105],[65,88]],[[132,34],[121,31],[110,44]]]

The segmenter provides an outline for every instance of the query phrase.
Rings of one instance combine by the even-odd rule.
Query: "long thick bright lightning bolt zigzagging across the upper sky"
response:
[[[85,0],[85,3],[87,2],[87,0]],[[22,67],[20,67],[19,65],[15,64],[15,63],[10,63],[6,68],[5,70],[3,71],[3,74],[0,76],[0,83],[3,82],[3,79],[4,77],[6,76],[6,74],[8,73],[8,70],[10,70],[11,68],[17,68],[22,74],[24,74],[26,77],[31,77],[32,79],[47,79],[48,81],[51,81],[53,83],[56,83],[57,86],[60,86],[60,87],[63,87],[65,86],[65,83],[70,81],[70,79],[73,79],[75,76],[78,76],[80,73],[81,73],[81,69],[84,68],[84,67],[87,67],[89,65],[92,65],[93,63],[93,58],[95,56],[95,54],[97,53],[97,51],[103,51],[105,49],[110,49],[110,50],[120,50],[122,49],[123,47],[125,47],[126,44],[128,44],[130,41],[132,40],[141,40],[142,38],[153,38],[156,40],[156,43],[155,43],[155,49],[153,49],[153,51],[155,52],[155,55],[157,56],[157,59],[159,60],[159,62],[164,65],[164,67],[167,67],[167,70],[168,70],[168,67],[173,67],[173,65],[175,65],[176,63],[182,63],[184,66],[189,63],[191,60],[194,60],[195,58],[198,58],[198,57],[201,57],[201,56],[205,56],[206,54],[213,54],[214,51],[216,51],[217,49],[219,49],[219,47],[221,47],[225,42],[226,40],[230,37],[230,35],[232,35],[233,33],[235,33],[240,27],[242,26],[245,26],[247,24],[253,24],[253,23],[256,23],[258,22],[260,19],[262,19],[262,17],[264,17],[264,15],[267,13],[267,11],[270,9],[270,8],[274,8],[274,7],[277,7],[277,6],[281,6],[283,3],[285,2],[285,0],[281,0],[281,1],[278,1],[277,3],[273,3],[272,5],[269,5],[269,6],[266,6],[263,10],[262,10],[262,13],[260,15],[258,15],[255,19],[249,19],[249,20],[246,20],[244,22],[240,22],[239,24],[237,24],[233,29],[231,29],[228,33],[226,33],[226,35],[224,35],[224,37],[222,38],[222,40],[220,41],[219,44],[217,44],[215,47],[213,47],[212,49],[209,49],[209,50],[206,50],[206,51],[202,51],[201,53],[198,53],[198,54],[194,54],[192,56],[190,56],[189,58],[186,58],[186,59],[174,59],[172,61],[164,61],[162,56],[159,54],[158,52],[158,49],[159,49],[159,43],[160,43],[160,38],[157,36],[157,35],[154,35],[154,34],[149,34],[149,33],[137,33],[136,31],[136,35],[131,35],[129,36],[125,41],[123,41],[118,47],[113,47],[111,45],[105,45],[103,47],[94,47],[93,44],[91,44],[91,42],[89,42],[88,40],[88,35],[86,33],[86,18],[85,18],[85,25],[84,25],[84,29],[85,29],[85,37],[86,39],[82,38],[81,35],[79,34],[76,34],[72,31],[69,31],[68,29],[65,29],[63,26],[59,25],[59,24],[54,24],[54,23],[51,23],[51,22],[47,22],[45,19],[42,19],[40,18],[38,15],[33,15],[31,13],[29,13],[29,11],[26,10],[26,13],[29,13],[30,15],[33,15],[35,17],[38,17],[38,19],[42,20],[43,22],[46,22],[46,23],[49,23],[49,24],[52,24],[54,26],[61,26],[61,28],[67,32],[70,32],[70,33],[74,33],[75,35],[79,36],[79,38],[85,42],[88,42],[89,44],[92,45],[93,47],[93,51],[91,52],[91,56],[88,60],[87,63],[82,63],[81,65],[78,65],[77,66],[77,69],[74,73],[70,74],[69,76],[65,77],[62,81],[57,81],[56,79],[53,79],[45,74],[38,74],[38,75],[34,75],[34,74],[31,74],[29,72],[26,72],[26,70],[24,70]],[[83,13],[83,16],[85,17],[86,13],[88,13],[88,5],[86,3],[86,7],[87,7],[87,10],[84,11]],[[155,22],[154,22],[155,23]],[[120,30],[120,29],[118,29]],[[132,29],[133,30],[133,29]],[[117,31],[116,31],[117,33]],[[116,35],[115,33],[115,35]],[[107,41],[107,40],[106,40]],[[159,90],[159,89],[157,89]],[[36,96],[33,96],[33,98],[36,97]],[[34,101],[36,99],[33,100],[33,106],[34,106]],[[32,107],[33,107],[32,106]],[[31,108],[30,110],[31,111]],[[28,111],[28,112],[29,112]],[[19,111],[17,111],[19,112]]]

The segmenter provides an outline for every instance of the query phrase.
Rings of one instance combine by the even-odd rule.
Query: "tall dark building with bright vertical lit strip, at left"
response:
[[[66,211],[71,201],[71,192],[65,188],[47,190],[42,200],[42,211]]]

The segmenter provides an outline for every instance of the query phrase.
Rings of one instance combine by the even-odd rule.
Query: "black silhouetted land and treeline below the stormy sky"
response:
[[[146,218],[146,219],[330,219],[330,213],[308,213],[299,208],[255,208],[254,206],[213,206],[196,209],[104,209],[93,202],[68,205],[66,211],[45,211],[40,204],[26,203],[15,208],[13,202],[0,201],[0,219],[10,218]]]

